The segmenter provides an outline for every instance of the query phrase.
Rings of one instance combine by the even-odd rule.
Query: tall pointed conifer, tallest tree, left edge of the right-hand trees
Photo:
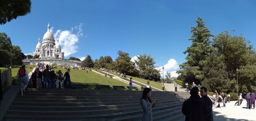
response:
[[[181,70],[177,71],[186,82],[200,82],[203,79],[202,70],[205,58],[214,50],[210,41],[213,34],[205,27],[202,18],[198,17],[196,23],[196,27],[191,27],[192,36],[188,39],[192,41],[192,45],[183,52],[187,54],[187,62],[182,63],[180,65]]]

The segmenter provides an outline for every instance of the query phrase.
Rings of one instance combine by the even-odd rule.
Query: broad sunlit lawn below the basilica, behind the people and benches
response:
[[[12,79],[13,85],[17,85],[18,81],[17,78],[17,72],[21,66],[12,66]],[[31,67],[31,68],[30,68]],[[28,73],[33,70],[35,66],[34,65],[26,65],[26,69],[28,70]],[[57,66],[58,68],[54,68],[54,72],[61,70],[63,74],[65,74],[65,69],[60,69],[60,66]],[[88,71],[88,74],[86,74],[85,70],[74,70],[73,68],[70,68],[70,79],[73,84],[88,84],[89,88],[96,88],[95,85],[110,85],[112,87],[113,85],[120,85],[120,86],[129,86],[129,84],[126,84],[124,82],[111,79],[110,77],[102,76],[100,74],[97,74],[92,71]],[[140,88],[140,87],[137,87]]]

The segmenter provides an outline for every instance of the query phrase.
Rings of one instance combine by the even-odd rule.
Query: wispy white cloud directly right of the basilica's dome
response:
[[[50,29],[53,31],[53,27]],[[72,27],[71,30],[57,30],[53,36],[55,41],[59,39],[61,51],[65,52],[64,56],[67,57],[77,52],[77,42],[79,38],[83,37],[82,23],[76,27]]]

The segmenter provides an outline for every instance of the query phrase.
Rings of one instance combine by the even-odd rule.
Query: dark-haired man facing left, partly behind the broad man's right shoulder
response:
[[[204,101],[206,102],[206,105],[209,109],[209,114],[206,115],[206,120],[213,120],[213,114],[212,114],[212,100],[207,96],[207,88],[202,87],[200,90],[200,94]]]

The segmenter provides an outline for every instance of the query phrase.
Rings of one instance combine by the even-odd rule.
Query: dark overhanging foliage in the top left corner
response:
[[[0,4],[0,24],[5,24],[18,16],[30,13],[30,0],[1,0]]]

